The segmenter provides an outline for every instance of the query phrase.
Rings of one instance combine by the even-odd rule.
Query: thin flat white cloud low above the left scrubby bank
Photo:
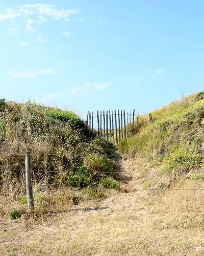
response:
[[[17,79],[31,79],[40,75],[55,74],[56,72],[51,69],[44,69],[38,71],[10,71],[9,74]]]

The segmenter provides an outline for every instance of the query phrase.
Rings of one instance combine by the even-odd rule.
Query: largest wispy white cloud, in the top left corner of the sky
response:
[[[33,4],[22,5],[16,9],[5,9],[4,13],[0,13],[0,21],[10,19],[17,16],[39,15],[40,17],[48,16],[55,19],[67,18],[71,14],[80,13],[78,9],[56,9],[55,5],[50,4]]]

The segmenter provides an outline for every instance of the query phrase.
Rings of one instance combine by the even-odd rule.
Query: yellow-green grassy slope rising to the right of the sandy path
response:
[[[204,151],[204,93],[185,96],[160,110],[140,116],[139,132],[119,143],[120,152],[146,157],[166,174],[186,174],[202,170]],[[202,174],[194,175],[202,179]]]

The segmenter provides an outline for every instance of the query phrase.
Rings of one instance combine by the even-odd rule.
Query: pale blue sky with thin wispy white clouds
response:
[[[203,90],[204,2],[7,0],[1,93],[87,111],[149,112]]]

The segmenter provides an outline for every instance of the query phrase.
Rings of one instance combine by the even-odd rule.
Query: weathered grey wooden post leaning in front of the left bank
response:
[[[34,211],[33,188],[31,185],[31,155],[30,155],[30,152],[27,152],[25,155],[25,180],[26,180],[28,207],[29,207],[30,211]]]

